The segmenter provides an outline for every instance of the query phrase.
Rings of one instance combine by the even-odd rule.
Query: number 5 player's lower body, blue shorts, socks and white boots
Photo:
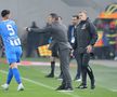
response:
[[[20,61],[20,58],[21,58],[21,55],[22,55],[22,48],[20,47],[20,48],[14,48],[12,51],[5,51],[5,54],[6,54],[6,59],[10,64],[10,70],[9,70],[5,86],[9,86],[8,84],[10,84],[10,82],[12,80],[12,77],[14,75],[14,78],[15,78],[17,84],[18,84],[17,91],[23,91],[24,86],[22,84],[20,71],[17,69],[17,63]],[[3,87],[3,85],[2,85],[2,87]]]

